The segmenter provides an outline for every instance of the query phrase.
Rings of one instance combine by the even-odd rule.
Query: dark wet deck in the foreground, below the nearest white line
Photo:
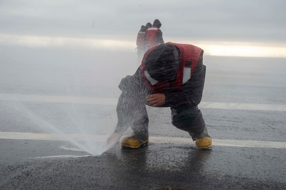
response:
[[[119,145],[101,156],[57,148],[61,143],[1,140],[1,189],[285,189],[285,149],[150,142],[139,149]],[[6,151],[5,151],[6,150]],[[9,151],[7,151],[9,150]],[[5,156],[3,156],[5,155]]]

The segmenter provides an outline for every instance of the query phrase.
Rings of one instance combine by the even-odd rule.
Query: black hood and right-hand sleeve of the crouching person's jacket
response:
[[[201,55],[203,54],[203,50]],[[180,49],[174,45],[162,44],[152,50],[144,59],[145,68],[152,78],[158,81],[168,80],[172,85],[181,59]],[[202,57],[199,57],[192,78],[190,78],[180,90],[163,91],[166,103],[161,107],[195,107],[202,99],[206,66]]]

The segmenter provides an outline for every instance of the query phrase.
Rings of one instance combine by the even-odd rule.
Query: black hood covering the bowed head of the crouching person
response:
[[[175,78],[180,64],[178,50],[172,44],[161,44],[144,59],[148,74],[158,81]]]

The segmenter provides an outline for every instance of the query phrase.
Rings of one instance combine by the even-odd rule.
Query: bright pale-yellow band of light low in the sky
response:
[[[170,38],[168,41],[192,44],[204,49],[204,55],[234,57],[276,57],[286,58],[286,44],[231,42],[231,41],[190,41]],[[167,41],[166,41],[167,42]],[[94,39],[76,37],[51,37],[39,35],[14,35],[0,33],[0,45],[31,48],[101,49],[106,51],[136,52],[136,41],[130,39]]]

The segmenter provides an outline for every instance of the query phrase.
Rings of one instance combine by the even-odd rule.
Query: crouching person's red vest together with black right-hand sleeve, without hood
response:
[[[175,45],[180,50],[180,65],[175,79],[172,81],[157,81],[146,72],[144,59],[156,48],[154,47],[146,51],[141,63],[141,77],[144,85],[153,94],[165,94],[165,105],[167,107],[195,107],[200,103],[204,89],[206,66],[202,63],[203,50],[193,45],[168,43]]]

